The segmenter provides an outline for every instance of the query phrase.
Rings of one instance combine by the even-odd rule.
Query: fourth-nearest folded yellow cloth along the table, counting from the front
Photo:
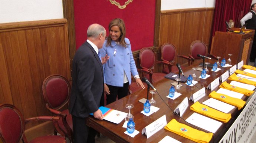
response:
[[[250,90],[245,89],[245,88],[240,88],[240,87],[237,87],[237,86],[230,85],[226,81],[222,82],[222,84],[220,85],[220,88],[224,88],[224,89],[228,89],[230,91],[242,93],[246,96],[250,96],[254,92],[254,91],[250,91]]]

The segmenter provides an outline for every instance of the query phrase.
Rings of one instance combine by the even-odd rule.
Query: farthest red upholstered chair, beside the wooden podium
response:
[[[193,64],[194,60],[202,59],[200,57],[197,57],[197,54],[211,57],[217,60],[217,57],[215,55],[208,54],[208,48],[206,44],[200,40],[193,41],[190,44],[190,54],[188,55],[188,57],[191,58],[190,64]]]

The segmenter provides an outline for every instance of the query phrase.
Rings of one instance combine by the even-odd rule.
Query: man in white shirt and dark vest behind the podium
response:
[[[241,20],[240,24],[243,26],[246,25],[246,29],[256,30],[256,3],[252,4],[251,11],[247,13]],[[252,43],[252,50],[250,54],[250,62],[255,62],[256,57],[256,34],[254,34],[254,39]],[[256,65],[256,64],[255,64]]]

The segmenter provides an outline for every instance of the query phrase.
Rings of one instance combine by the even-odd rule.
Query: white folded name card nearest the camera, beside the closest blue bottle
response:
[[[163,129],[165,125],[167,125],[167,122],[166,122],[166,116],[164,115],[159,119],[155,120],[154,122],[152,122],[150,125],[144,127],[142,129],[141,135],[145,133],[148,139],[149,137],[154,135],[156,132]]]

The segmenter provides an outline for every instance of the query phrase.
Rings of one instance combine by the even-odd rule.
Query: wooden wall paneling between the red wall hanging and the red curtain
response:
[[[159,46],[175,45],[180,55],[188,55],[191,42],[202,40],[209,47],[214,8],[191,8],[161,11]],[[177,58],[180,64],[186,59]]]

